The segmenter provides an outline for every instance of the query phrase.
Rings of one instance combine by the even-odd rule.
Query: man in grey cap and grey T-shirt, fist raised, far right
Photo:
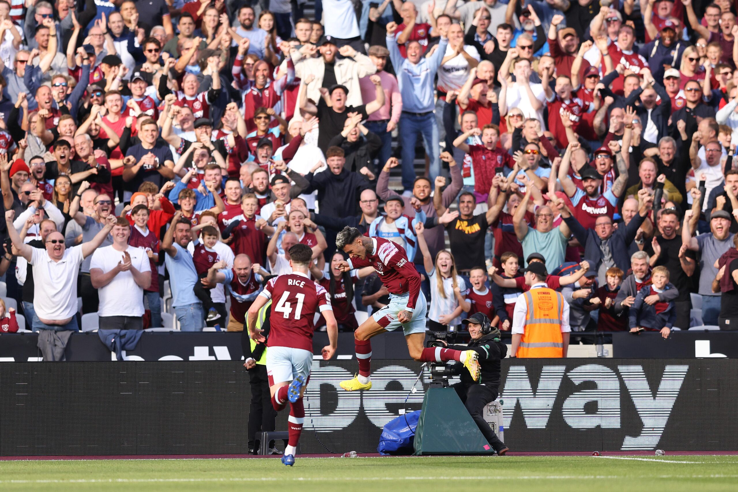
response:
[[[738,171],[731,171],[736,177]],[[733,186],[726,184],[728,194],[734,194]],[[690,251],[700,253],[700,288],[697,293],[702,295],[702,321],[703,324],[717,325],[720,315],[720,293],[712,292],[712,281],[717,276],[715,264],[720,256],[733,247],[733,234],[730,232],[733,216],[724,210],[716,210],[710,214],[710,232],[698,234],[692,237],[697,229],[697,221],[700,218],[700,191],[693,188],[692,210],[684,213],[684,225],[682,227],[682,242]],[[695,198],[697,197],[697,198]],[[734,195],[735,197],[735,195]]]

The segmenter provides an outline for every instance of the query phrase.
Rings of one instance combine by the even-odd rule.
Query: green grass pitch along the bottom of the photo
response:
[[[0,491],[731,491],[738,456],[0,462]]]

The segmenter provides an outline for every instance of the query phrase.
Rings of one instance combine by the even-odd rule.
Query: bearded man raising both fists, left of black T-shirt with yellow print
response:
[[[456,163],[456,160],[448,152],[441,154],[440,159],[449,164],[451,183],[446,187],[443,193],[441,193],[441,187],[446,184],[446,178],[441,177],[442,180],[438,180],[438,178],[436,178],[435,183],[432,183],[428,177],[425,176],[418,176],[415,178],[415,181],[413,182],[412,196],[402,197],[405,215],[409,217],[415,216],[415,208],[410,203],[413,198],[420,202],[421,210],[425,213],[425,216],[428,219],[433,219],[439,216],[436,211],[437,206],[438,210],[441,210],[441,215],[443,215],[446,208],[448,208],[456,199],[456,195],[458,195],[458,192],[461,191],[461,187],[463,186],[461,166]],[[385,202],[390,198],[400,196],[394,191],[391,191],[389,186],[390,169],[397,165],[399,165],[397,158],[391,157],[390,160],[384,164],[384,168],[382,168],[382,172],[379,173],[379,179],[377,179],[376,182],[376,193],[379,195],[379,198],[383,199]],[[430,193],[434,184],[441,185],[441,187],[437,189],[432,199]],[[435,258],[435,254],[444,249],[444,228],[441,227],[441,225],[438,227],[426,228],[424,236],[425,242],[428,245],[428,250],[430,250],[430,255]],[[330,244],[330,241],[328,241],[328,244]],[[417,261],[415,267],[421,269],[419,271],[423,271],[423,256],[420,253],[418,253],[416,258],[411,258],[411,260],[413,260],[413,262]]]

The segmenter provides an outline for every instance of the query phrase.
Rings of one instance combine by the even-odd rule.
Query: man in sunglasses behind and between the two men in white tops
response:
[[[107,227],[108,216],[113,216],[113,200],[108,195],[97,195],[92,202],[92,216],[87,216],[80,212],[80,196],[89,188],[89,182],[83,181],[80,185],[75,199],[69,205],[69,216],[82,227],[82,244],[94,241],[100,230]],[[111,226],[112,228],[112,226]],[[110,229],[108,229],[108,233]],[[99,246],[109,246],[113,244],[113,240],[109,234],[106,234]],[[90,260],[85,259],[82,262],[80,273],[80,297],[82,298],[82,313],[97,312],[97,289],[92,286],[90,280]]]

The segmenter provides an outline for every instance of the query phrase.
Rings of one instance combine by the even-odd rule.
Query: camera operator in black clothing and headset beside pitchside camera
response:
[[[461,383],[451,387],[458,393],[489,445],[502,456],[506,454],[508,447],[497,438],[497,434],[494,434],[482,417],[482,412],[487,403],[497,399],[500,391],[500,361],[507,354],[507,346],[500,341],[500,330],[493,328],[489,318],[481,312],[475,312],[461,323],[467,325],[469,335],[472,335],[469,345],[448,345],[442,340],[438,342],[449,349],[475,350],[481,375],[479,380],[475,381],[468,371],[463,370],[463,364],[454,364],[452,366],[454,374],[461,375]]]

